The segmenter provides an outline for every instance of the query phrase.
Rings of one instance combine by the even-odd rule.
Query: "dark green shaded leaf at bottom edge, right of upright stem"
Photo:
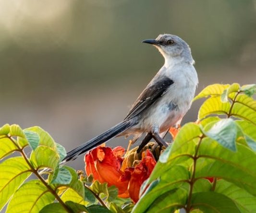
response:
[[[194,193],[192,208],[198,208],[205,213],[241,213],[230,198],[213,191]]]

